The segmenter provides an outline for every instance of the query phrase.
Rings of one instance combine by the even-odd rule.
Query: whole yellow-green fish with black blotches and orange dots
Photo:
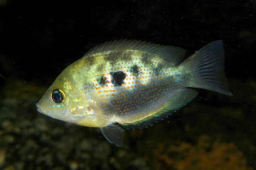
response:
[[[183,60],[185,53],[146,41],[105,42],[59,74],[37,111],[100,128],[110,143],[122,146],[122,130],[147,128],[167,118],[198,95],[194,88],[232,96],[222,40]]]

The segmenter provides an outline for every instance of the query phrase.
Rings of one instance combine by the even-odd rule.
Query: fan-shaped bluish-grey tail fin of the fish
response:
[[[228,81],[224,73],[223,41],[210,42],[192,56],[188,57],[182,66],[190,69],[191,79],[188,87],[196,87],[224,95],[233,96],[228,88]]]

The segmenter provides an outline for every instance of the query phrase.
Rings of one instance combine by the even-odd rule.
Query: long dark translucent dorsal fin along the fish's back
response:
[[[90,49],[84,57],[94,55],[100,52],[113,51],[113,50],[138,50],[145,51],[149,53],[155,53],[161,55],[162,57],[169,60],[171,65],[176,65],[181,63],[183,57],[185,56],[186,50],[180,47],[174,46],[164,46],[159,44],[153,44],[146,41],[138,40],[114,40],[100,44],[92,49]]]

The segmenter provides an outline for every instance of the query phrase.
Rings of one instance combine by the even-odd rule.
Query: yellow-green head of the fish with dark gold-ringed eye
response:
[[[37,111],[54,119],[78,124],[88,112],[87,99],[81,95],[74,79],[63,71],[36,104]]]

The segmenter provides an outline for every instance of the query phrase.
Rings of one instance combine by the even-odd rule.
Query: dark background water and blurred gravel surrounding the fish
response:
[[[0,0],[0,169],[256,169],[255,11],[255,0]],[[233,96],[196,89],[168,118],[123,131],[122,147],[37,112],[64,68],[115,39],[182,47],[186,57],[223,40]]]

